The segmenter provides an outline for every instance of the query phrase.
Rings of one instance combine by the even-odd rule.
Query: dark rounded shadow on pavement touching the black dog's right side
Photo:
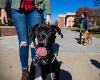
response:
[[[65,70],[60,70],[60,80],[72,80],[70,72]]]

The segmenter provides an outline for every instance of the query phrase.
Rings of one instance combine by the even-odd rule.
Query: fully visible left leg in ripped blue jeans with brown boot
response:
[[[15,9],[12,9],[11,12],[19,39],[19,56],[22,66],[22,80],[26,80],[29,50],[27,16],[25,13],[20,13]]]

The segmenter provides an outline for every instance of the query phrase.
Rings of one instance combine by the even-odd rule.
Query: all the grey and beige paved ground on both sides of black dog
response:
[[[100,39],[86,47],[77,43],[78,33],[62,30],[56,39],[61,80],[100,80]],[[29,58],[30,59],[30,58]],[[30,60],[29,60],[30,62]],[[0,37],[0,80],[20,80],[17,36]]]

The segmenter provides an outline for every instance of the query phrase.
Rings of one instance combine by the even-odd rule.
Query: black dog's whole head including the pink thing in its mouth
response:
[[[46,24],[37,24],[31,28],[30,38],[36,47],[36,54],[41,57],[41,62],[47,62],[48,55],[51,56],[49,53],[52,52],[52,45],[55,43],[56,33],[58,33],[61,38],[63,38],[61,29],[55,25],[48,27]]]

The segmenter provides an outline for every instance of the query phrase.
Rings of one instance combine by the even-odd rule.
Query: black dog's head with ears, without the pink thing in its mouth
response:
[[[48,27],[46,24],[37,24],[30,30],[30,38],[32,39],[36,48],[46,47],[48,49],[55,42],[56,33],[61,35],[61,37],[63,38],[61,29],[59,27],[55,25],[51,25]]]

